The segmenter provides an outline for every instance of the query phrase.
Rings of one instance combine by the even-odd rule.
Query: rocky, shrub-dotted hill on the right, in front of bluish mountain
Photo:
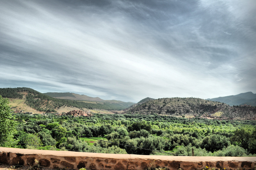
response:
[[[135,104],[125,113],[162,114],[173,116],[226,116],[239,119],[255,119],[255,107],[230,107],[225,103],[203,100],[199,98],[162,98]]]

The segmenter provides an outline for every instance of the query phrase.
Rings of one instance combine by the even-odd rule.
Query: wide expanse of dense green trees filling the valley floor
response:
[[[255,121],[233,120],[226,121],[223,124],[223,122],[216,120],[198,118],[190,120],[171,116],[158,116],[156,114],[95,114],[92,117],[77,118],[54,114],[42,117],[25,114],[15,114],[15,116],[19,120],[24,119],[42,127],[59,128],[61,131],[66,129],[70,133],[81,134],[82,136],[188,156],[191,156],[192,148],[194,148],[195,156],[252,156],[255,150]],[[61,120],[63,123],[60,126],[56,122]],[[20,123],[16,128],[20,130],[19,134],[37,133],[43,146],[52,146],[58,149],[98,153],[168,155],[88,138],[85,140],[75,135],[66,134],[63,137],[64,134],[60,135],[54,130],[49,134],[44,131],[44,128],[24,123]],[[65,129],[63,130],[63,128]],[[244,146],[240,146],[241,143],[239,141],[231,140],[237,129],[244,129],[244,132],[249,134],[248,152],[243,148]],[[14,137],[16,139],[20,138],[18,134]],[[55,139],[57,139],[57,142]],[[230,145],[230,143],[234,146]],[[17,147],[24,148],[26,145]],[[238,153],[233,151],[235,149],[238,150]]]

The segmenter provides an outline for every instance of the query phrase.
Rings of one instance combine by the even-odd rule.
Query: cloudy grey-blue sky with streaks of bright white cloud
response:
[[[256,93],[255,0],[1,0],[0,88],[146,97]]]

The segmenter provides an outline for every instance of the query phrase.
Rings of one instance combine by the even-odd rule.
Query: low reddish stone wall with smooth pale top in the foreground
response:
[[[71,151],[32,150],[0,147],[0,163],[53,169],[143,170],[161,167],[169,170],[255,169],[256,157],[197,157],[105,154]],[[255,169],[256,170],[256,169]]]

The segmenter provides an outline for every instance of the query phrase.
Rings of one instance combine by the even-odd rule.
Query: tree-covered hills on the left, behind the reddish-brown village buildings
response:
[[[68,99],[57,99],[42,94],[34,89],[26,87],[0,88],[0,95],[10,99],[25,100],[25,104],[39,112],[56,112],[61,107],[71,107],[83,109],[103,109],[103,110],[123,110],[133,105],[132,102],[122,102],[116,100],[97,101],[76,101]]]

